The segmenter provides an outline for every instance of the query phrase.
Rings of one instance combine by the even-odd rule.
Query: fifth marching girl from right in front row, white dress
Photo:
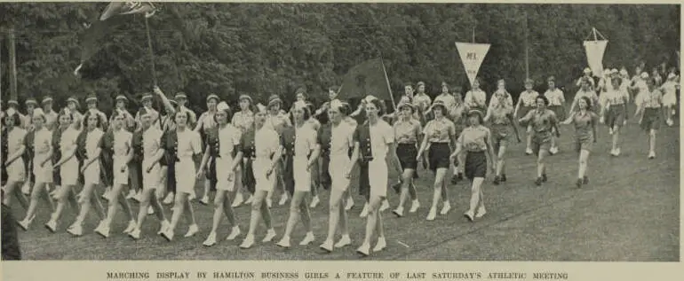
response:
[[[204,151],[202,163],[197,172],[197,178],[201,178],[209,158],[211,157],[216,160],[214,165],[219,173],[216,175],[217,182],[216,198],[214,198],[214,216],[213,223],[211,224],[211,232],[209,233],[209,237],[204,240],[204,246],[216,245],[216,234],[224,214],[227,216],[230,225],[233,226],[226,239],[234,240],[240,235],[240,225],[235,218],[235,211],[233,210],[233,207],[231,207],[231,203],[235,197],[235,191],[238,191],[235,182],[237,179],[240,179],[240,177],[235,175],[240,174],[240,164],[243,161],[243,152],[240,150],[242,132],[240,129],[237,129],[230,124],[230,107],[225,102],[221,102],[214,107],[216,112],[211,119],[215,119],[214,122],[216,122],[218,126],[208,128],[208,131],[206,132],[206,149]],[[206,122],[206,120],[203,121],[202,117],[200,117],[200,122]]]

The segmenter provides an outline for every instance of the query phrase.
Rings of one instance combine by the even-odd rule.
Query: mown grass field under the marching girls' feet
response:
[[[591,183],[577,190],[577,154],[572,151],[574,134],[569,126],[561,128],[561,152],[549,160],[549,181],[534,185],[536,162],[524,155],[524,144],[514,144],[508,153],[508,182],[495,186],[491,176],[484,185],[488,214],[475,222],[462,215],[470,199],[465,182],[449,186],[452,210],[433,222],[426,221],[432,195],[433,176],[420,171],[418,214],[396,218],[387,210],[386,250],[370,260],[402,261],[679,261],[680,256],[680,129],[664,127],[658,136],[657,158],[647,160],[648,142],[637,124],[623,132],[622,155],[608,154],[610,136],[601,126],[598,144],[589,160]],[[201,187],[198,184],[198,194]],[[101,192],[101,191],[99,191]],[[398,196],[388,191],[390,203]],[[322,204],[313,210],[316,241],[298,246],[304,237],[299,225],[292,235],[292,247],[283,250],[274,243],[258,242],[249,250],[227,236],[226,220],[219,232],[219,244],[211,248],[202,242],[211,229],[213,207],[195,202],[201,231],[194,238],[182,238],[187,222],[181,220],[177,237],[166,242],[156,236],[158,222],[149,216],[143,238],[133,241],[124,234],[123,215],[118,215],[110,238],[92,230],[97,216],[91,214],[84,226],[84,237],[73,238],[65,230],[74,220],[68,208],[60,232],[51,234],[42,224],[48,209],[41,208],[32,229],[20,230],[20,244],[27,260],[356,260],[354,250],[362,242],[365,219],[359,218],[360,197],[350,212],[353,245],[323,253],[318,246],[327,232],[328,192],[322,191]],[[274,196],[274,200],[279,197]],[[137,210],[137,205],[133,205]],[[407,206],[408,207],[408,206]],[[168,210],[168,206],[166,207]],[[15,204],[15,215],[25,211]],[[237,209],[238,220],[246,233],[248,207]],[[167,213],[168,214],[168,213]],[[274,206],[274,227],[284,231],[288,207]],[[263,226],[257,239],[263,238]],[[402,246],[403,244],[409,247]],[[375,242],[373,242],[374,245]]]

